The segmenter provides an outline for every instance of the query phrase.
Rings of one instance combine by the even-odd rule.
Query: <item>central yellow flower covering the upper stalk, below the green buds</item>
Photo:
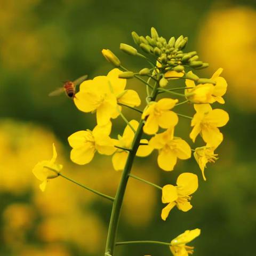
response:
[[[150,102],[150,105],[142,114],[142,119],[148,117],[143,131],[147,134],[154,134],[158,131],[159,126],[168,129],[177,125],[178,116],[170,110],[177,102],[177,99],[161,99],[158,102]]]

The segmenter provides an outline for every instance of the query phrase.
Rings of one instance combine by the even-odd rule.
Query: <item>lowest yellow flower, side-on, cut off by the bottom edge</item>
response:
[[[201,230],[198,228],[186,230],[184,233],[172,239],[170,250],[173,256],[188,256],[188,254],[193,254],[194,247],[186,244],[198,237],[200,233]]]

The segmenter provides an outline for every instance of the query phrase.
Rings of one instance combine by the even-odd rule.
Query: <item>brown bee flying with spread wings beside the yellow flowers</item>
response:
[[[69,98],[74,99],[75,93],[76,93],[76,85],[81,84],[83,81],[85,81],[87,79],[87,77],[88,77],[87,75],[84,75],[84,76],[77,78],[73,82],[66,81],[66,82],[64,82],[62,87],[59,87],[58,89],[49,93],[49,96],[50,97],[57,96],[57,95],[60,95],[61,93],[65,92]]]

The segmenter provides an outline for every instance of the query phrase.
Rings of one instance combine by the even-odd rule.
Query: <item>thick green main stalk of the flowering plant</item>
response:
[[[151,92],[150,100],[154,101],[156,99],[157,95],[157,87],[158,83],[155,84],[154,90]],[[108,226],[108,236],[107,236],[107,243],[106,243],[106,250],[105,250],[105,256],[111,255],[114,256],[114,250],[115,250],[115,243],[116,243],[116,234],[117,234],[117,228],[118,228],[118,221],[121,213],[121,208],[123,204],[125,189],[127,186],[127,182],[129,179],[129,174],[132,169],[132,164],[136,155],[136,152],[138,150],[138,147],[140,146],[140,139],[143,132],[143,119],[140,120],[139,126],[137,131],[134,134],[133,142],[132,142],[132,150],[129,152],[124,171],[121,177],[121,181],[119,183],[118,189],[116,191],[115,200],[113,202],[110,222]]]

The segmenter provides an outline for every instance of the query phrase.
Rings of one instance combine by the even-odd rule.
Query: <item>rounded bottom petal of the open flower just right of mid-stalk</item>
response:
[[[157,158],[158,166],[164,171],[172,171],[177,162],[177,156],[171,150],[159,150]]]

